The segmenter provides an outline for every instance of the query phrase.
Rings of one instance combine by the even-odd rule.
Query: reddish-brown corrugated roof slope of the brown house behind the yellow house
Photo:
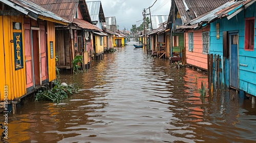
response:
[[[51,12],[66,18],[70,22],[76,14],[79,0],[31,0],[32,2],[50,10]]]

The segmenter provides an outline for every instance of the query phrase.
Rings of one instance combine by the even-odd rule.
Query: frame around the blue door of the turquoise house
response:
[[[231,80],[231,66],[232,66],[232,64],[231,64],[231,56],[232,56],[232,54],[231,54],[231,42],[232,42],[232,35],[238,35],[238,47],[237,47],[237,52],[238,52],[238,55],[237,55],[237,58],[238,58],[238,61],[237,61],[237,65],[238,65],[238,87],[236,88],[236,87],[233,87],[233,86],[231,86],[231,82],[232,82],[232,80]],[[228,37],[229,37],[229,45],[228,45],[228,47],[229,47],[229,87],[230,88],[234,88],[234,89],[239,89],[239,79],[240,79],[240,77],[239,77],[239,33],[238,33],[238,31],[230,31],[230,32],[228,32]]]

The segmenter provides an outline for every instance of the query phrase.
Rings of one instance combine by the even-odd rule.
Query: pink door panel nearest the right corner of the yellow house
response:
[[[39,26],[40,31],[40,61],[41,81],[47,79],[47,54],[46,54],[46,31],[45,26]]]

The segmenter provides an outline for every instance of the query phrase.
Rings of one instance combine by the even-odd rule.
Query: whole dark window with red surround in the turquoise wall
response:
[[[245,19],[244,50],[253,51],[254,49],[254,23],[255,17]]]

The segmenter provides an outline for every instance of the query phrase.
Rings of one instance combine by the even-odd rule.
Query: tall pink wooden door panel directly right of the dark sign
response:
[[[32,61],[32,48],[31,48],[31,30],[30,21],[24,20],[24,40],[25,40],[25,61],[26,61],[26,88],[34,85],[33,82],[33,61]]]

